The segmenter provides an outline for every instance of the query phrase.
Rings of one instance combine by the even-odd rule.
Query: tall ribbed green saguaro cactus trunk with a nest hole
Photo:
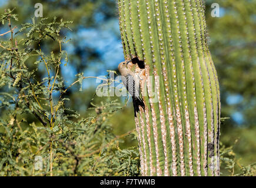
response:
[[[118,9],[125,59],[145,72],[142,176],[218,176],[220,89],[202,0],[118,0]]]

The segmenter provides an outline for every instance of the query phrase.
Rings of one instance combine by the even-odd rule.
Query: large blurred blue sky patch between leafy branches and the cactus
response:
[[[93,49],[99,53],[99,62],[89,62],[89,66],[84,72],[84,76],[101,76],[107,75],[107,70],[117,69],[119,62],[124,61],[124,55],[122,50],[121,38],[119,35],[118,19],[111,19],[105,24],[102,24],[98,28],[81,28],[77,33],[69,32],[67,38],[71,38],[74,41],[78,41],[75,45],[78,45],[81,49],[85,47]],[[64,46],[69,55],[75,53],[75,47],[71,42]],[[62,65],[64,66],[64,65]],[[71,83],[75,79],[74,67],[72,62],[68,62],[68,65],[62,69],[62,73],[68,78],[68,83]],[[83,82],[83,88],[95,85],[96,79],[87,80]]]

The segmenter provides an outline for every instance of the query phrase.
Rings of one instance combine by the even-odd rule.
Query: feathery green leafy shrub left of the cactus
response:
[[[66,107],[65,93],[84,79],[79,73],[66,86],[59,74],[61,63],[68,61],[62,50],[67,41],[59,33],[71,22],[41,19],[22,25],[17,34],[24,36],[15,38],[11,24],[16,15],[8,10],[0,18],[9,23],[5,35],[11,33],[10,40],[0,42],[0,175],[139,175],[137,148],[119,147],[134,130],[117,136],[108,120],[122,108],[117,100],[92,100],[87,118]],[[56,43],[58,52],[43,52],[40,44],[45,40]],[[35,66],[29,66],[27,60],[33,57]],[[44,78],[38,77],[38,64],[46,70]],[[41,162],[42,168],[36,167]]]

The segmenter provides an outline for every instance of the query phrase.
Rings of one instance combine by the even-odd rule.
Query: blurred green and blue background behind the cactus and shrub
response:
[[[67,68],[61,67],[67,85],[74,82],[79,72],[84,72],[84,76],[104,76],[107,70],[117,70],[118,63],[124,61],[115,0],[1,0],[0,11],[15,8],[19,21],[14,25],[20,28],[21,24],[32,22],[38,2],[43,5],[44,18],[56,16],[74,21],[72,32],[64,31],[68,39],[71,38],[64,46],[69,54]],[[247,165],[256,158],[256,2],[214,0],[205,3],[209,46],[221,86],[221,116],[230,117],[221,125],[220,139],[226,146],[234,145],[238,162]],[[218,18],[211,16],[213,3],[220,5]],[[8,28],[1,25],[0,33],[6,31]],[[50,47],[58,51],[58,46],[51,43],[42,46],[46,52]],[[40,66],[38,69],[39,78],[43,78],[45,70]],[[71,98],[70,108],[78,110],[82,117],[88,116],[87,109],[97,85],[91,78],[84,80],[82,92],[79,86],[73,87],[67,93]],[[117,135],[134,129],[134,119],[127,116],[133,116],[131,102],[111,117]],[[137,141],[126,139],[121,147],[128,146],[137,146]],[[226,171],[222,167],[221,172],[226,174]]]

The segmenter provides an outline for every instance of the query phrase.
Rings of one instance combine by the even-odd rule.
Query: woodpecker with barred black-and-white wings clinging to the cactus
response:
[[[122,75],[122,83],[126,86],[128,92],[132,96],[132,103],[134,105],[134,116],[137,117],[137,112],[139,112],[139,106],[145,110],[145,105],[143,100],[139,97],[139,75],[132,70],[127,68],[127,64],[131,62],[121,62],[118,65],[118,70]]]

